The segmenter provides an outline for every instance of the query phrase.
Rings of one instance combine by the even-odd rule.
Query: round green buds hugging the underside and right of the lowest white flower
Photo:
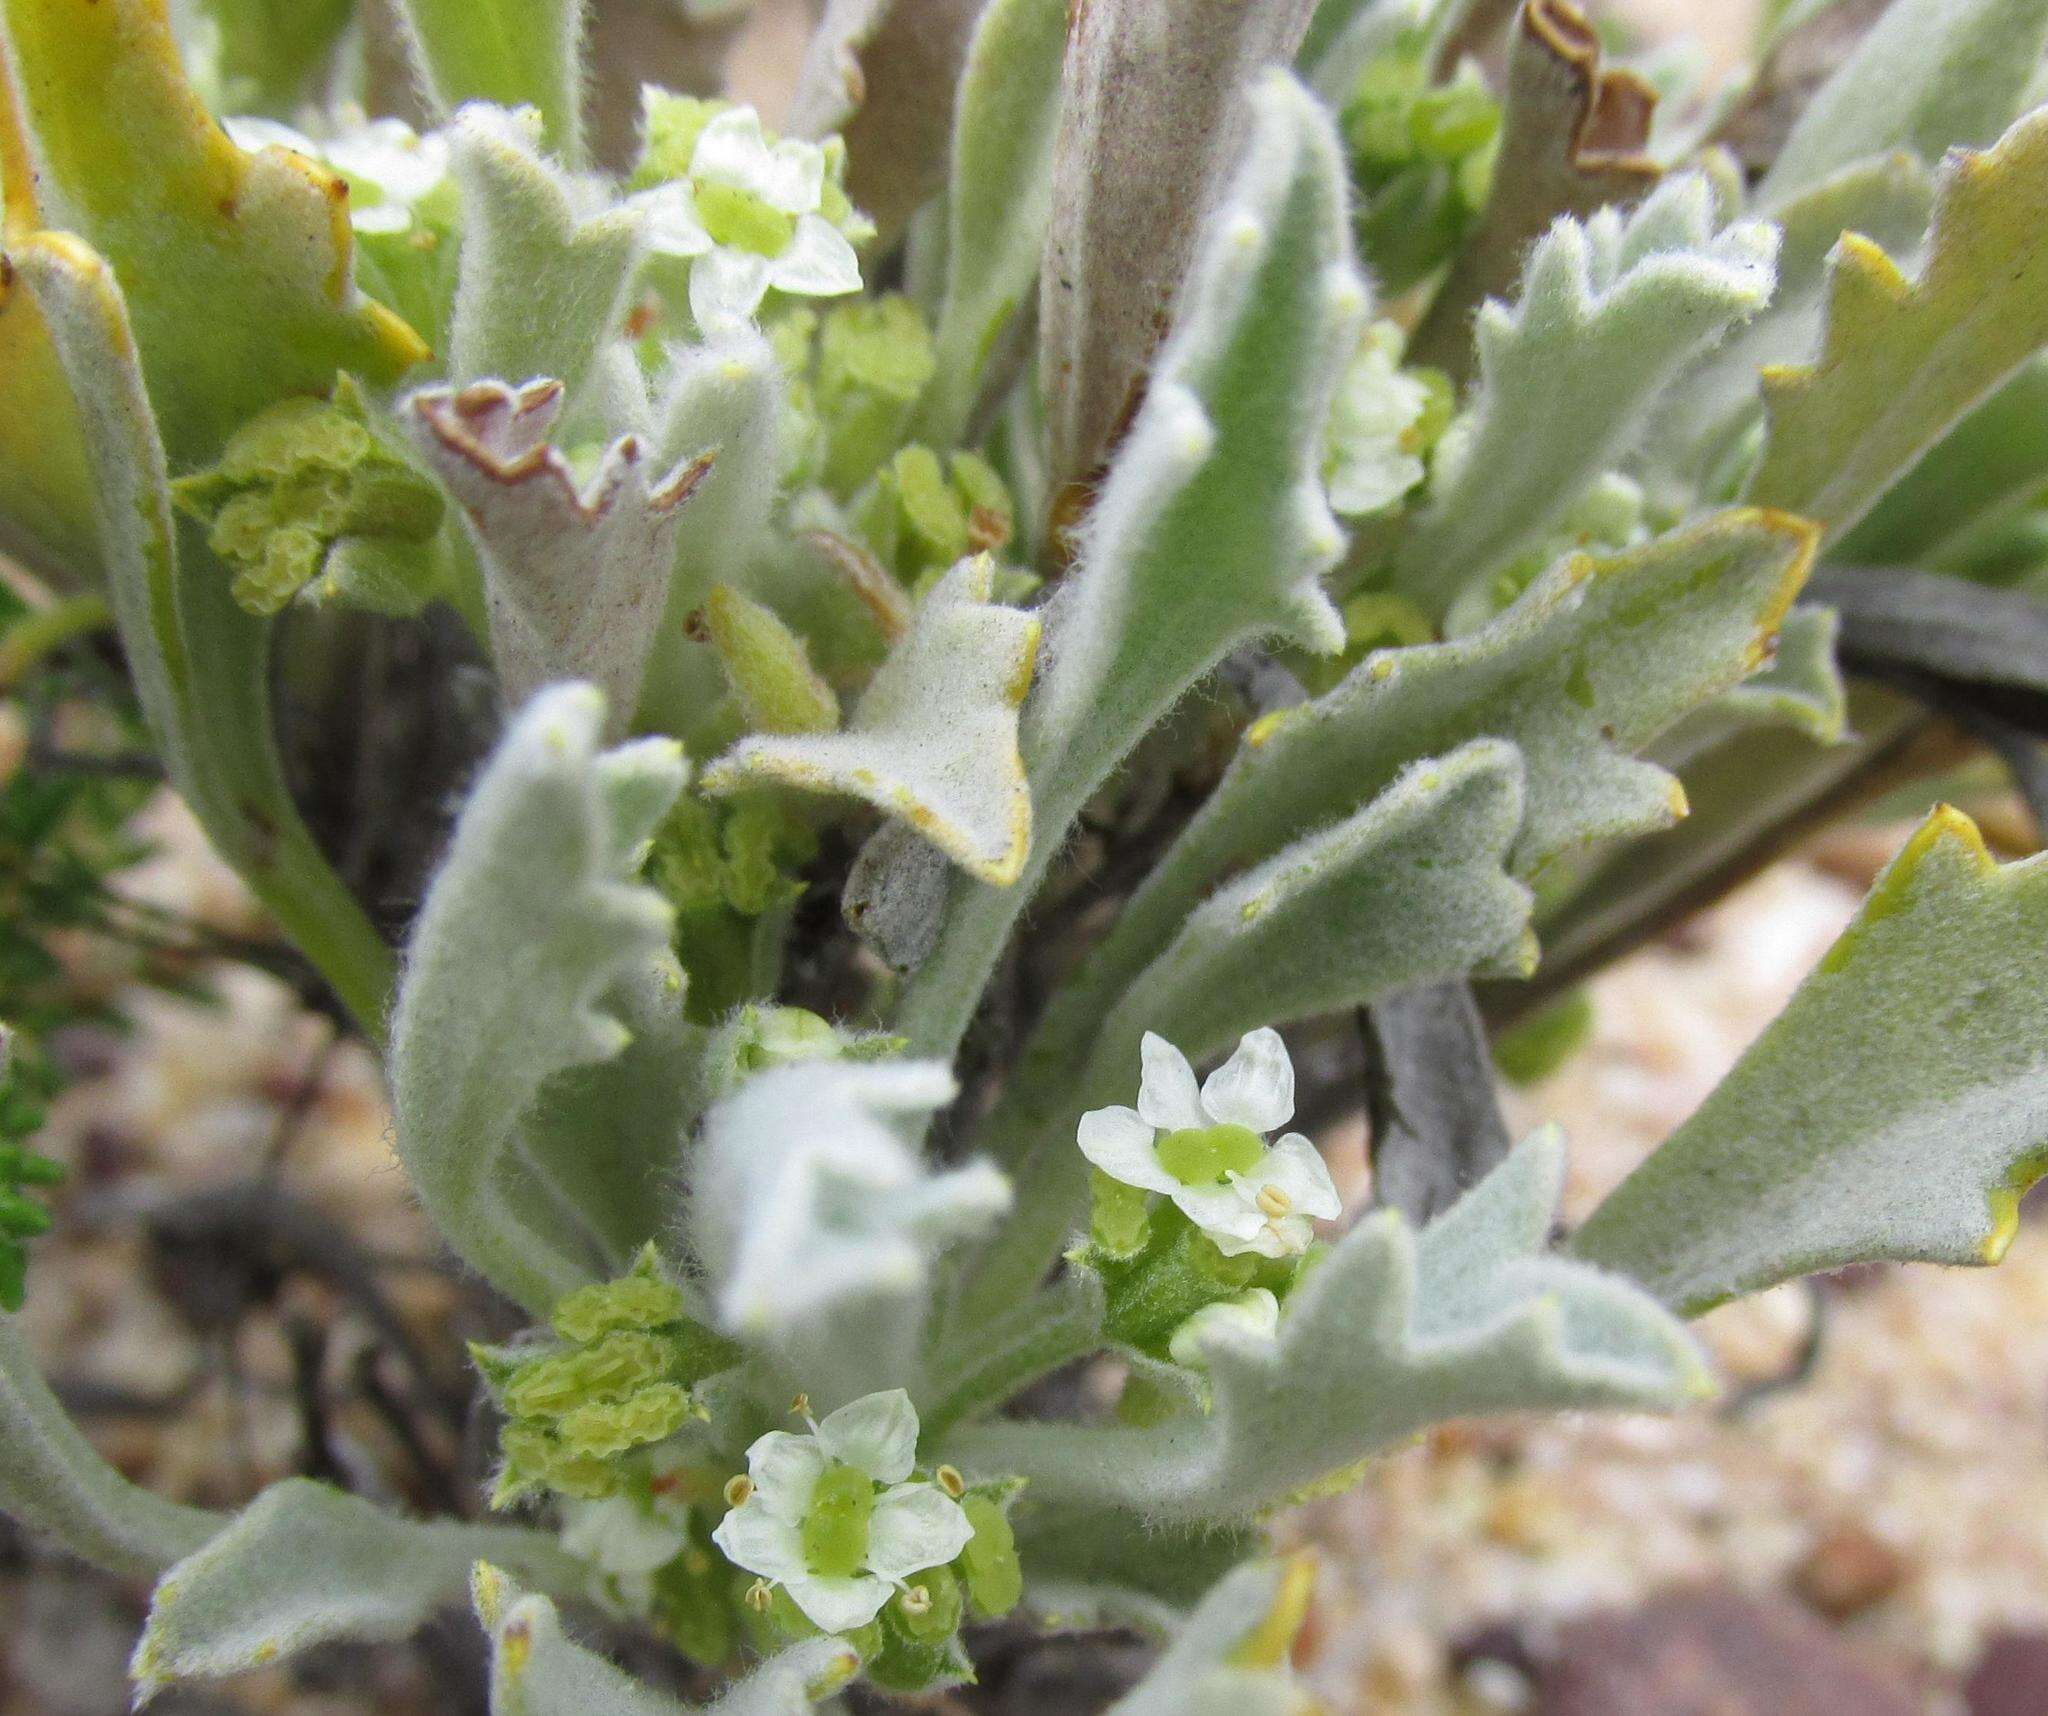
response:
[[[1022,1481],[969,1487],[950,1466],[911,1476],[936,1483],[956,1497],[975,1536],[954,1560],[905,1579],[903,1589],[866,1626],[838,1634],[860,1653],[868,1681],[887,1691],[909,1693],[973,1679],[961,1628],[969,1620],[999,1620],[1024,1597],[1024,1567],[1010,1526],[1010,1507],[1024,1489]],[[733,1591],[745,1640],[760,1655],[819,1636],[819,1628],[782,1587],[741,1573]]]

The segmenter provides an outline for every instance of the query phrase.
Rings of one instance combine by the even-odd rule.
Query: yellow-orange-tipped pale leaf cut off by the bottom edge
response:
[[[1104,1716],[1313,1716],[1321,1704],[1286,1661],[1313,1571],[1303,1554],[1217,1581],[1151,1673]]]

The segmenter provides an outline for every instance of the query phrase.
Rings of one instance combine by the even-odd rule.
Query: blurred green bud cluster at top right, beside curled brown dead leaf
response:
[[[1456,254],[1493,184],[1501,106],[1466,61],[1430,82],[1430,45],[1403,35],[1358,76],[1341,115],[1358,248],[1395,297]]]

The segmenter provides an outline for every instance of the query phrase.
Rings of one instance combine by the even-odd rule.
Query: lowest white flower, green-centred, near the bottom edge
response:
[[[961,1503],[911,1481],[915,1458],[918,1411],[901,1388],[840,1407],[809,1435],[772,1429],[748,1448],[745,1491],[711,1540],[825,1632],[852,1632],[975,1536]]]

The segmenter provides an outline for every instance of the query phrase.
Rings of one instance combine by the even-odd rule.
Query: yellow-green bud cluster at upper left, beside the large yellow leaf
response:
[[[172,483],[172,500],[207,526],[252,614],[283,610],[340,539],[428,543],[442,516],[440,489],[377,434],[346,377],[332,401],[287,399],[252,418],[217,465]]]

